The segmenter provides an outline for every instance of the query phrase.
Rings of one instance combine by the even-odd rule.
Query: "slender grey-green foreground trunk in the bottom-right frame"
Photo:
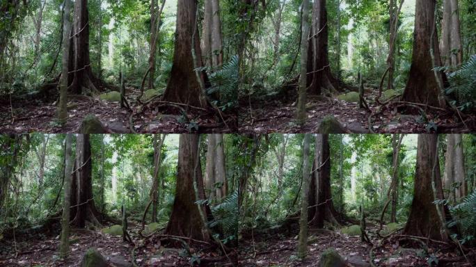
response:
[[[304,0],[307,1],[307,0]],[[300,259],[306,258],[308,250],[308,191],[309,191],[309,150],[310,150],[310,138],[311,134],[306,133],[304,135],[303,142],[303,183],[301,190],[301,216],[299,218],[299,245],[298,245],[298,257]]]

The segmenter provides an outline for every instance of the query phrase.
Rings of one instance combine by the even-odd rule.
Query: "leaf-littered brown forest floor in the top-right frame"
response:
[[[308,96],[306,110],[308,118],[303,127],[296,125],[296,92],[286,97],[272,97],[257,101],[242,99],[239,110],[241,133],[316,133],[326,115],[333,115],[349,133],[467,133],[476,131],[475,115],[466,118],[466,125],[457,115],[449,111],[425,110],[424,115],[402,113],[405,106],[392,101],[381,108],[374,99],[376,92],[366,90],[365,99],[369,109],[360,108],[358,103],[335,98]],[[398,107],[398,108],[397,108]],[[425,107],[423,107],[425,108]],[[419,112],[420,113],[420,112]],[[372,131],[369,117],[372,116]]]

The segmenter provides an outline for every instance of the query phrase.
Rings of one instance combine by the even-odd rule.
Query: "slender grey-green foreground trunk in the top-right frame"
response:
[[[302,34],[301,34],[301,75],[299,76],[299,96],[297,106],[297,122],[300,126],[306,123],[307,81],[308,81],[308,36],[309,36],[309,0],[303,0]],[[312,54],[312,53],[311,53]]]

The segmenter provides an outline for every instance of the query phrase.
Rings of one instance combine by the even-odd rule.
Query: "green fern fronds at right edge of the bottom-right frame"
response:
[[[476,191],[468,195],[461,203],[450,207],[452,220],[448,222],[449,227],[458,226],[461,234],[465,236],[463,240],[471,240],[476,236]]]

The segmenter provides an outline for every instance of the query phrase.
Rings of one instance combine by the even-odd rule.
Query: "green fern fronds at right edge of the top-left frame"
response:
[[[220,70],[212,70],[209,67],[201,67],[198,70],[205,70],[208,74],[210,87],[207,88],[207,95],[219,95],[216,104],[225,110],[237,105],[237,88],[239,80],[238,56],[233,56],[228,63],[223,64]]]

